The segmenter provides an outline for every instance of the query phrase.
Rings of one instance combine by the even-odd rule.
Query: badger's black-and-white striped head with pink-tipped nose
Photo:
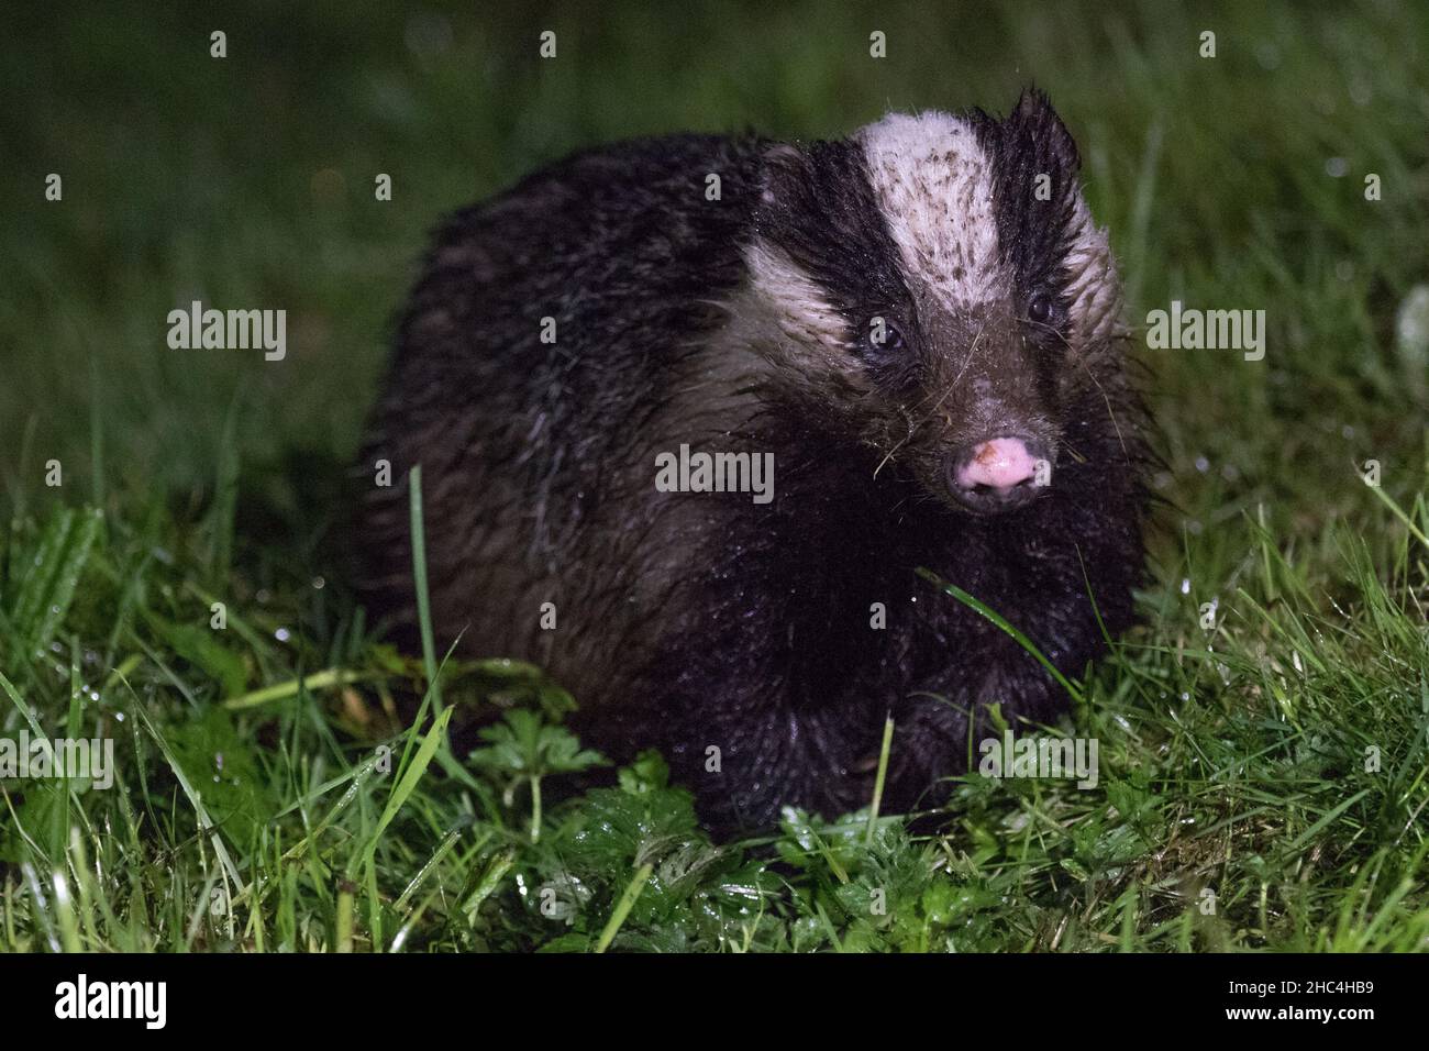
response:
[[[746,262],[785,388],[956,509],[1056,486],[1120,386],[1120,286],[1077,170],[1040,93],[1005,120],[893,114],[772,147]]]

